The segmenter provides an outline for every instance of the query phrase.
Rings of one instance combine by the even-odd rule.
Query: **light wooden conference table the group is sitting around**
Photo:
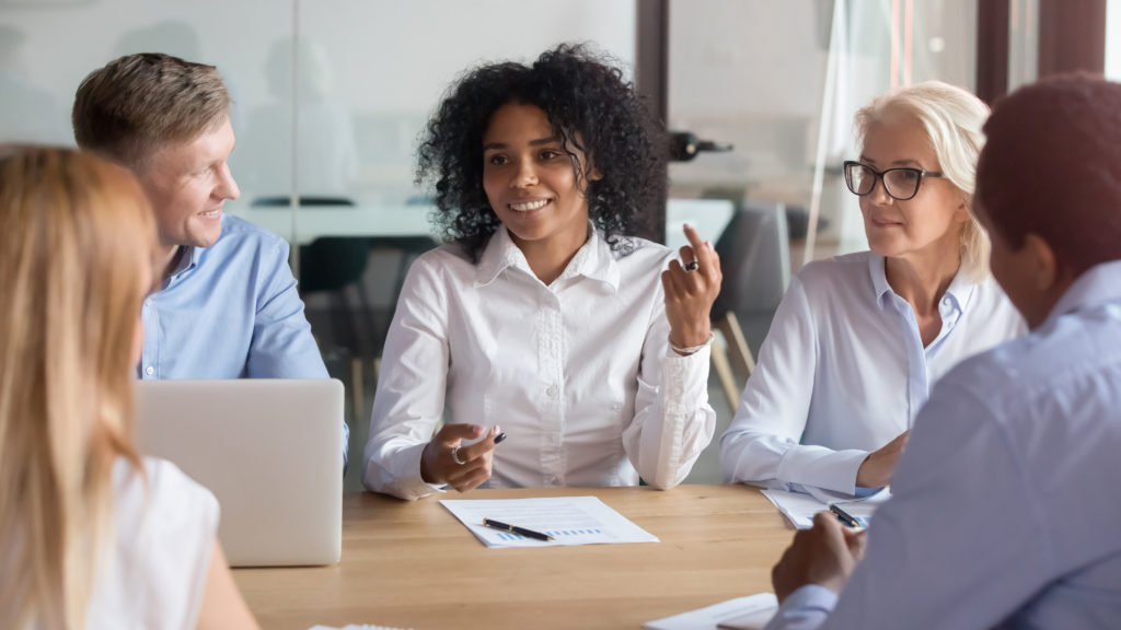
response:
[[[564,495],[596,495],[660,543],[489,549],[438,502]],[[233,574],[269,630],[640,628],[770,591],[770,568],[791,535],[743,485],[474,490],[417,502],[352,493],[337,565]]]

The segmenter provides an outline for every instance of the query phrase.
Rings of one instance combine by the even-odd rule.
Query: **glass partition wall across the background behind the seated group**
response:
[[[1035,1],[1012,0],[1023,8],[1013,34],[1030,33]],[[640,13],[666,7],[668,127],[693,133],[682,147],[729,149],[671,165],[667,242],[682,244],[691,222],[734,253],[725,294],[743,304],[722,308],[753,309],[744,318],[754,352],[791,271],[867,247],[840,170],[856,155],[855,109],[898,85],[976,82],[978,0],[665,2],[0,1],[0,141],[73,143],[74,91],[119,55],[219,66],[234,100],[241,185],[226,209],[291,244],[319,348],[348,386],[356,488],[397,294],[409,263],[436,244],[414,151],[466,67],[591,41],[630,72]],[[1016,78],[1030,80],[1021,57],[1032,48],[1012,39],[1010,65],[1028,70]],[[756,226],[745,229],[749,210]],[[734,401],[712,391],[720,430]],[[714,451],[697,471],[691,479],[719,481]]]

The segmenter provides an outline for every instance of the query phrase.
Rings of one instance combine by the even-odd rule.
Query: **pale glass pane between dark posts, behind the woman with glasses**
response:
[[[865,249],[840,170],[856,150],[853,114],[877,94],[921,81],[973,90],[976,15],[975,0],[670,0],[669,126],[734,146],[675,165],[671,194],[785,204],[794,269]],[[807,252],[814,206],[818,230]]]

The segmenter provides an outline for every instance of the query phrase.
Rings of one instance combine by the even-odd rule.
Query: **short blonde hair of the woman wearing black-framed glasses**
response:
[[[989,106],[970,92],[927,81],[877,98],[856,111],[855,128],[863,143],[868,131],[884,118],[896,114],[914,118],[926,132],[938,156],[943,175],[965,197],[970,221],[962,229],[962,269],[981,280],[989,276],[989,237],[973,215],[976,192],[976,164],[984,147],[982,127]]]

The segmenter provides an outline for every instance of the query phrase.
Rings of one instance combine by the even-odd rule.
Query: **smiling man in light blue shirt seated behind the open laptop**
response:
[[[72,118],[78,146],[132,170],[156,213],[161,274],[143,303],[140,378],[327,378],[288,243],[223,212],[240,191],[217,68],[120,57],[85,77]]]

